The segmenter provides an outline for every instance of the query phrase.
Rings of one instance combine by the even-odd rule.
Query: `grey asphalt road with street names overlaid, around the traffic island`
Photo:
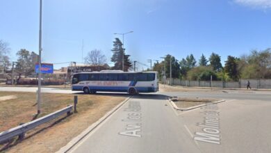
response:
[[[46,92],[72,93],[53,88]],[[226,102],[175,111],[166,100],[169,96]],[[69,152],[271,152],[270,99],[271,92],[238,90],[137,95]]]

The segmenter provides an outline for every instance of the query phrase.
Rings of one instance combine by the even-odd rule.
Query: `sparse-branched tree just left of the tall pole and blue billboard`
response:
[[[21,49],[16,54],[18,56],[17,63],[15,65],[15,71],[19,74],[18,80],[22,75],[25,77],[35,72],[35,63],[38,62],[38,54],[30,52],[26,49]]]

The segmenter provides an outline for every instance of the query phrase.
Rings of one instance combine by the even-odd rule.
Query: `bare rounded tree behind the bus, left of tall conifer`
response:
[[[85,56],[85,63],[91,65],[104,65],[106,64],[106,56],[101,54],[100,50],[94,49]]]

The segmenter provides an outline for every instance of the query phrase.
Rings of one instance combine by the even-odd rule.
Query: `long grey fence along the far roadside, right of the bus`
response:
[[[239,81],[187,81],[172,79],[172,85],[188,87],[213,87],[213,88],[247,88],[247,80],[252,88],[271,89],[271,79],[240,79]],[[162,83],[170,84],[170,79]]]

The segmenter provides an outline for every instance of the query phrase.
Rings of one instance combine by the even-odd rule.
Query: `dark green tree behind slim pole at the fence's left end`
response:
[[[179,78],[180,77],[180,65],[174,56],[167,54],[165,56],[165,75],[167,78],[170,77],[170,58],[172,60],[172,78]]]

